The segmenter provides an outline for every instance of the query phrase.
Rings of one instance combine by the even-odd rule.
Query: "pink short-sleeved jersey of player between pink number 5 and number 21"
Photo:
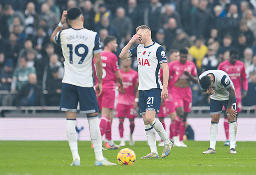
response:
[[[120,69],[120,73],[126,92],[118,94],[117,103],[122,105],[133,105],[135,100],[135,84],[139,83],[138,72],[133,69],[130,69],[128,72],[123,72],[123,70]]]

